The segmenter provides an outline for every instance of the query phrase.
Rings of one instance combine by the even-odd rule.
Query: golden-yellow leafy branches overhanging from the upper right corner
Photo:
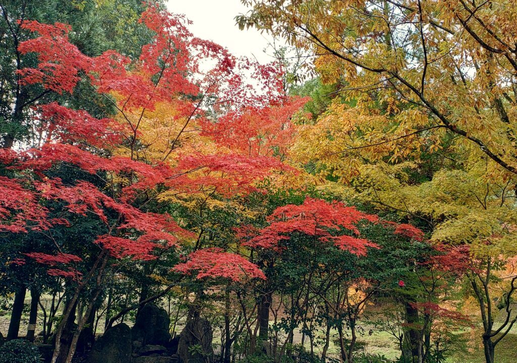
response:
[[[252,9],[237,17],[241,27],[256,26],[314,52],[323,82],[338,83],[358,109],[398,121],[379,132],[390,130],[393,139],[447,130],[517,173],[513,1],[243,3]]]

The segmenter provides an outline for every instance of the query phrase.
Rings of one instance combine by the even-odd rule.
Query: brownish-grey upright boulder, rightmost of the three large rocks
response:
[[[199,350],[189,352],[192,346]],[[181,363],[205,363],[214,355],[212,349],[212,327],[204,318],[190,319],[179,334],[178,356]]]

